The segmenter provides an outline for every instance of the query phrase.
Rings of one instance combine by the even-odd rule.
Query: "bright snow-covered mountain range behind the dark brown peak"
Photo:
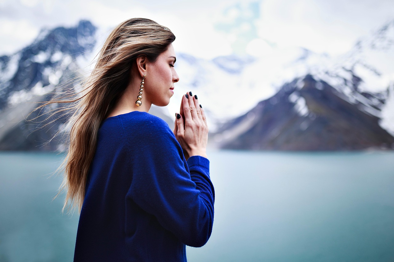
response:
[[[284,84],[308,74],[326,81],[349,101],[365,104],[369,113],[380,114],[375,107],[383,109],[390,81],[394,82],[393,31],[394,20],[338,57],[295,47],[272,48],[263,57],[220,57],[220,63],[187,55],[178,63],[177,85],[182,90],[203,92],[201,98],[215,122],[246,113]],[[371,97],[366,98],[369,94]],[[387,119],[386,114],[379,117]],[[394,127],[390,129],[393,131]]]

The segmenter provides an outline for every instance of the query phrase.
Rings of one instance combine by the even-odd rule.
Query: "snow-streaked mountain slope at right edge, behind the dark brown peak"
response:
[[[314,72],[394,135],[394,20],[362,38],[345,55]]]

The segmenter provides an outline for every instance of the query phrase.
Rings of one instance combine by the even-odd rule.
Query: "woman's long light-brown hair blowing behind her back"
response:
[[[175,40],[168,28],[145,18],[132,18],[116,26],[102,47],[95,68],[82,84],[75,99],[63,96],[52,103],[70,103],[73,114],[67,120],[69,147],[61,165],[64,171],[59,193],[67,190],[63,211],[82,208],[89,168],[97,147],[97,133],[131,80],[131,67],[137,57],[150,62]],[[68,100],[64,98],[69,98]],[[63,109],[64,110],[64,109]]]

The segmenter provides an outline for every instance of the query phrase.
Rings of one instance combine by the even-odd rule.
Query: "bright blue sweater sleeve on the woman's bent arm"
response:
[[[133,178],[128,195],[181,242],[203,246],[214,219],[208,159],[192,156],[186,164],[175,135],[160,118],[140,128],[143,141],[138,151],[130,151]]]

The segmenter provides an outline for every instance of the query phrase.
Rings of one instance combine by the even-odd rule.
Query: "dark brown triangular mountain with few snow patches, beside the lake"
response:
[[[298,89],[299,80],[225,124],[217,134],[219,147],[314,151],[392,146],[394,138],[379,126],[379,118],[342,99],[327,83],[308,75]]]

